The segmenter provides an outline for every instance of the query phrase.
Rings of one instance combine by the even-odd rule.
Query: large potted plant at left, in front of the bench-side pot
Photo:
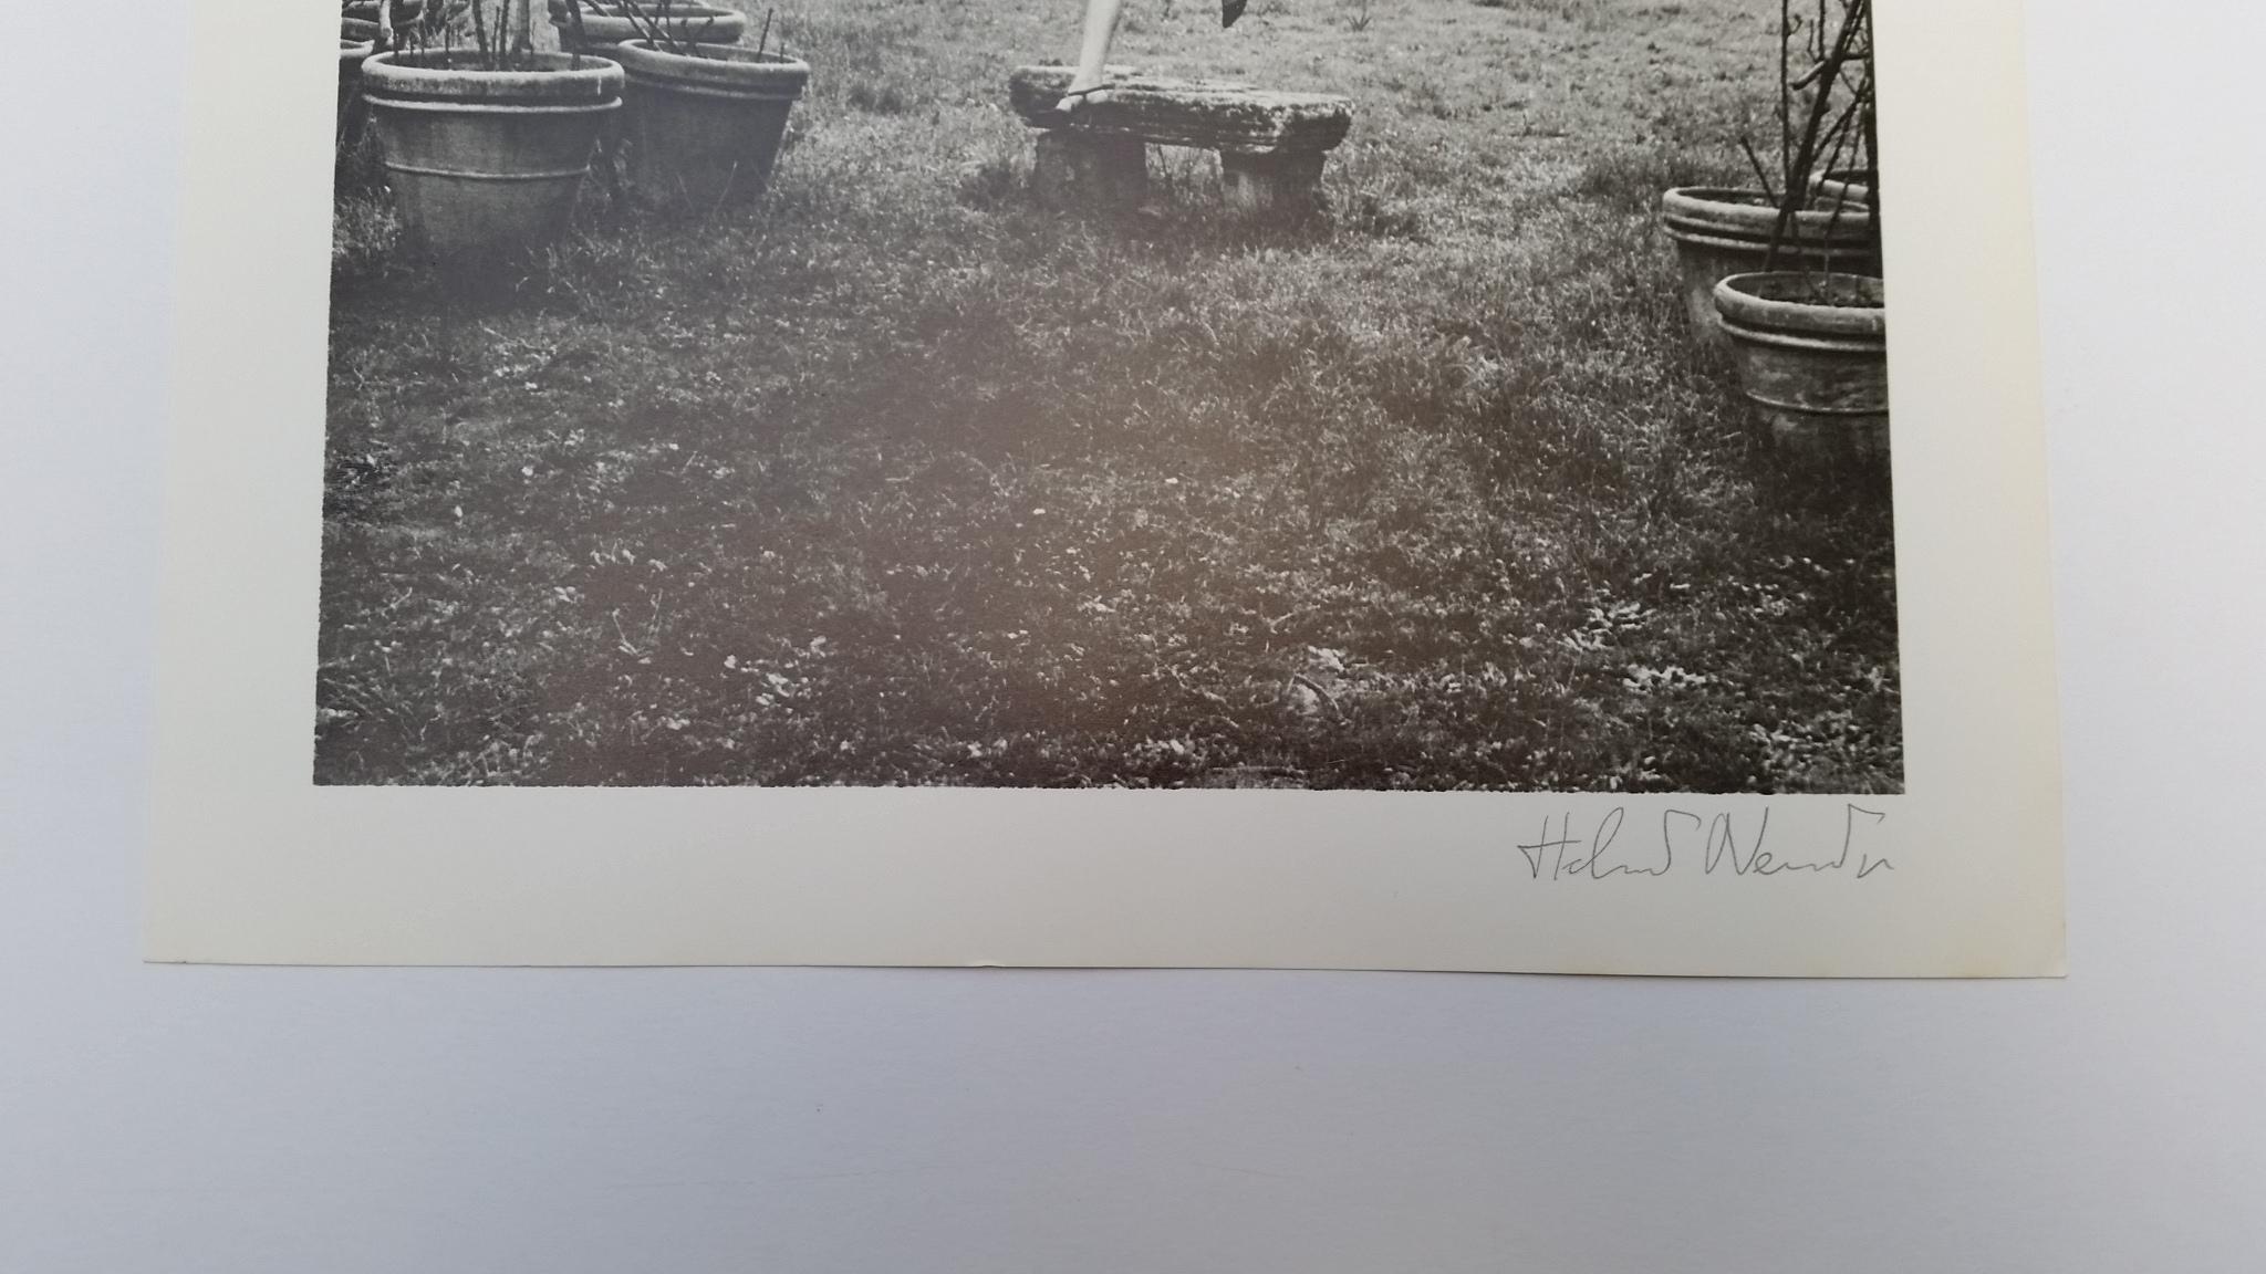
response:
[[[462,0],[381,36],[363,100],[403,236],[442,258],[510,256],[555,240],[589,175],[621,68],[537,52],[533,0]],[[381,25],[385,23],[385,9]]]

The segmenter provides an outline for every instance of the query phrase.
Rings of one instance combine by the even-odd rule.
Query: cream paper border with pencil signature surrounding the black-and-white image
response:
[[[1876,16],[1906,793],[1854,802],[315,787],[331,20],[206,0],[188,59],[150,959],[2062,973],[2014,0]],[[1767,807],[1815,861],[1849,805],[1885,814],[1865,880],[1709,873],[1670,814],[1745,852]],[[1520,843],[1613,809],[1611,861],[1684,830],[1668,875],[1536,880]]]

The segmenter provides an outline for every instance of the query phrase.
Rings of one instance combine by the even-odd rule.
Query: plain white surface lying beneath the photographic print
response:
[[[2257,1269],[2266,16],[2033,7],[2039,984],[145,968],[188,7],[11,41],[0,1274]]]

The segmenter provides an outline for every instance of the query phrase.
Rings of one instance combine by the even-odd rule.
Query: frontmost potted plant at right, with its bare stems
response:
[[[1781,447],[1820,460],[1883,462],[1888,311],[1876,277],[1876,184],[1845,184],[1831,195],[1831,206],[1811,206],[1813,199],[1829,202],[1815,177],[1831,181],[1851,147],[1867,159],[1876,154],[1872,0],[1835,2],[1833,29],[1817,23],[1804,41],[1808,70],[1781,77],[1781,116],[1799,120],[1799,129],[1781,134],[1788,147],[1765,265],[1720,279],[1711,304],[1740,385]],[[1790,20],[1781,25],[1781,36],[1795,45]],[[1813,186],[1820,186],[1817,195]],[[1817,218],[1824,218],[1829,236],[1842,224],[1863,227],[1860,261],[1872,270],[1851,270],[1831,256],[1822,263],[1813,258],[1799,227]]]

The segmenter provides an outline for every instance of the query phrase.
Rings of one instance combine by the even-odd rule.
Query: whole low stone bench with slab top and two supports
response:
[[[1054,206],[1133,209],[1149,193],[1149,147],[1219,152],[1230,209],[1305,215],[1321,206],[1321,165],[1353,127],[1353,100],[1273,93],[1242,84],[1156,79],[1110,68],[1108,91],[1072,111],[1067,66],[1017,68],[1006,86],[1022,122],[1038,129],[1031,184]]]

